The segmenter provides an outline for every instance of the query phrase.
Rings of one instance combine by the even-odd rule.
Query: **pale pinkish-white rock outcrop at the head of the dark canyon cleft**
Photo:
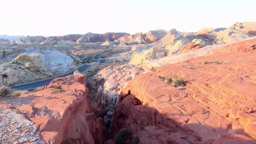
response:
[[[91,79],[90,90],[95,94],[93,101],[98,109],[106,112],[104,116],[104,125],[107,127],[105,137],[109,137],[109,127],[115,107],[118,105],[121,89],[125,88],[131,79],[141,72],[142,70],[135,65],[108,66]]]

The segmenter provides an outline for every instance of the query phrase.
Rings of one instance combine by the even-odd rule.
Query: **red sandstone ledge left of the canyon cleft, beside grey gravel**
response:
[[[15,99],[27,103],[10,106],[34,123],[46,144],[103,144],[102,118],[95,116],[84,81],[82,74],[56,78],[48,88]],[[57,85],[62,90],[53,93]]]

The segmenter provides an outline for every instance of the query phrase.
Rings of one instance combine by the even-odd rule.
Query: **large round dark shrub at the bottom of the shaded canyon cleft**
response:
[[[131,130],[128,128],[123,128],[115,135],[115,143],[125,144],[125,141],[129,136],[131,136]]]

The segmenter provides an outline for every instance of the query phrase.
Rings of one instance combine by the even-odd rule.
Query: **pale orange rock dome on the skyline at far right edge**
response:
[[[250,23],[234,23],[230,28],[237,29],[243,33],[248,33],[250,35],[256,36],[256,23],[250,22]]]

